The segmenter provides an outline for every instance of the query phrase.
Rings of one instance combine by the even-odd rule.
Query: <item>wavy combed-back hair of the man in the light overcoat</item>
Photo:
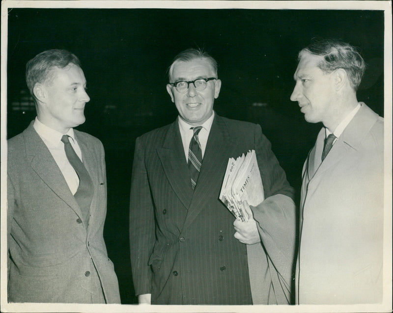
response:
[[[365,73],[365,61],[357,48],[337,39],[315,40],[299,52],[299,61],[304,52],[323,56],[318,67],[324,73],[343,69],[347,73],[351,86],[356,91]]]

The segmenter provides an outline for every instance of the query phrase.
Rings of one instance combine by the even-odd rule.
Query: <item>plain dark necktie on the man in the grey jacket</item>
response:
[[[74,197],[81,208],[84,220],[87,225],[91,199],[93,198],[94,192],[93,182],[91,181],[90,175],[84,167],[81,159],[79,156],[77,156],[75,150],[72,148],[68,139],[68,135],[63,135],[61,137],[61,141],[64,143],[65,155],[79,177],[79,186],[77,192],[74,194]]]

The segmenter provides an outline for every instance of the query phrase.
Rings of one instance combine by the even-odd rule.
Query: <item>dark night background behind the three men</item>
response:
[[[39,52],[63,48],[82,62],[90,102],[78,127],[106,151],[108,213],[104,237],[124,304],[136,302],[129,260],[129,189],[135,139],[177,115],[166,91],[167,69],[187,48],[203,48],[219,64],[218,114],[258,123],[296,188],[321,124],[305,122],[289,100],[297,53],[314,37],[361,49],[367,70],[358,92],[383,116],[383,11],[252,9],[26,9],[8,15],[7,138],[35,110],[25,65]]]

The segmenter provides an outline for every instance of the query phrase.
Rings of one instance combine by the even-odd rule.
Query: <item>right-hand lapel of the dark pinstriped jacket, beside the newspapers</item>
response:
[[[211,194],[216,186],[223,183],[228,156],[233,150],[233,142],[229,136],[226,125],[220,116],[216,115],[209,133],[198,182],[193,194],[192,202],[183,228],[187,228],[197,217],[199,212],[205,208]],[[219,192],[217,199],[219,198]]]

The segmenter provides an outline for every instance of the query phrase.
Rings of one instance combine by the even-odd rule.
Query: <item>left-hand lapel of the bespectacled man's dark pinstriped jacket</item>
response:
[[[157,149],[157,153],[169,184],[188,209],[193,190],[177,119],[169,126],[163,147]]]

